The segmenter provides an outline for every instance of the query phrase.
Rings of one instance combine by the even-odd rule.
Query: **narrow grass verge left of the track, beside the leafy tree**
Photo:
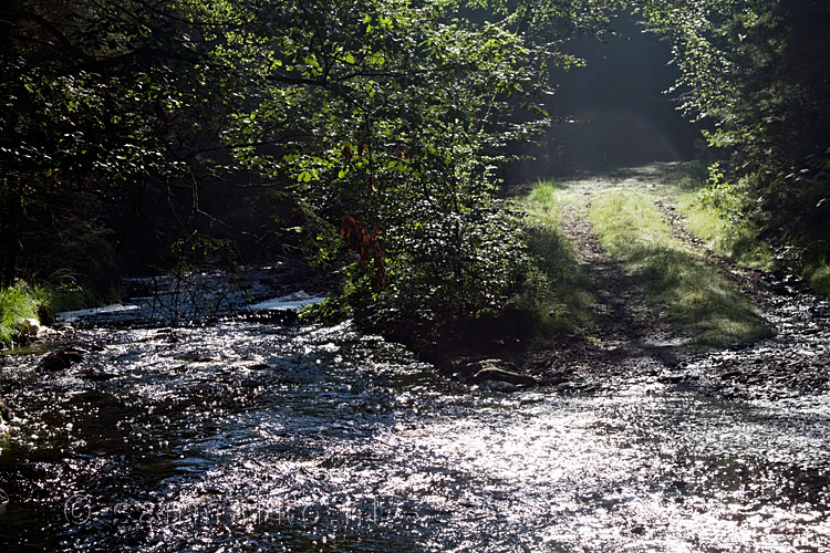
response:
[[[527,213],[523,226],[532,267],[515,304],[537,319],[541,343],[550,342],[557,332],[591,324],[591,282],[579,264],[577,249],[559,229],[560,194],[553,181],[541,180],[520,202]]]

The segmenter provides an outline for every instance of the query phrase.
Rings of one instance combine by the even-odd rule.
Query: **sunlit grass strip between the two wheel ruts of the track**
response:
[[[590,219],[608,252],[642,279],[650,302],[666,304],[672,323],[691,335],[695,346],[768,336],[753,303],[672,237],[654,199],[612,190],[594,200]]]

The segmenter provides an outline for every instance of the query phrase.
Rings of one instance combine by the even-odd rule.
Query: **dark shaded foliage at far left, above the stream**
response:
[[[45,272],[105,289],[117,280],[116,261],[143,255],[146,244],[131,232],[157,238],[179,222],[189,236],[203,212],[198,155],[217,144],[229,86],[219,67],[201,63],[209,46],[193,36],[230,22],[194,19],[186,6],[3,6],[0,280]],[[139,211],[151,196],[173,211],[163,225]]]

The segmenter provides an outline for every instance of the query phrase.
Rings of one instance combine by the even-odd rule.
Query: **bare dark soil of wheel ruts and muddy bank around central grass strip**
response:
[[[828,302],[811,294],[791,274],[741,269],[707,250],[685,229],[682,216],[671,204],[666,190],[673,178],[676,167],[665,165],[563,182],[575,209],[568,210],[561,229],[578,248],[580,262],[593,283],[594,326],[561,336],[550,348],[527,353],[522,369],[562,392],[616,387],[634,378],[744,399],[781,400],[805,395],[819,399],[828,394]],[[644,301],[637,280],[605,253],[587,220],[592,199],[610,188],[644,189],[662,198],[657,207],[675,237],[753,298],[774,337],[689,353],[691,337],[672,328],[662,306]]]

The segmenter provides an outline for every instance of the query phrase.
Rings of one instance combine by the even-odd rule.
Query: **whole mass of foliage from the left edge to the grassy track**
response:
[[[136,232],[186,267],[234,258],[221,195],[237,188],[259,195],[242,209],[276,206],[264,234],[346,260],[340,306],[447,323],[498,310],[526,264],[499,167],[549,123],[537,101],[549,67],[575,62],[563,41],[616,3],[12,0],[2,280],[72,263],[73,242],[96,253],[74,271],[106,273]]]

